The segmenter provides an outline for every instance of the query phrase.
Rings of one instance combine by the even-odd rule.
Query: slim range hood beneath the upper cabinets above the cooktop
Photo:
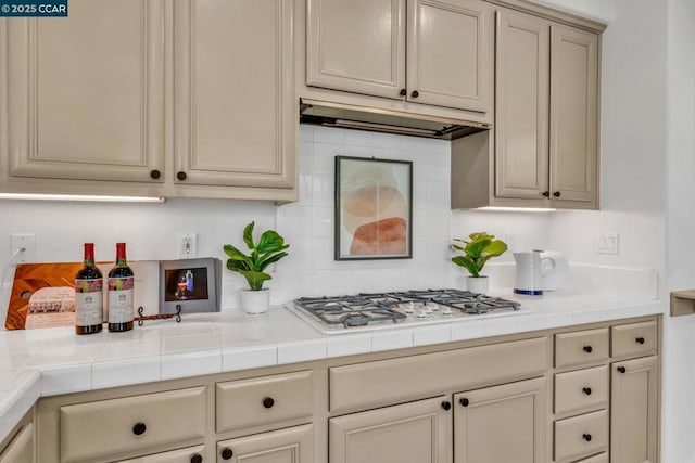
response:
[[[489,124],[307,99],[300,101],[300,123],[443,140],[490,129]]]

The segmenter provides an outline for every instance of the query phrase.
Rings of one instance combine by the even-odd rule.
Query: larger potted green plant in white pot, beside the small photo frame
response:
[[[227,269],[240,273],[249,282],[249,290],[241,290],[241,307],[247,313],[262,313],[268,309],[270,294],[263,283],[273,276],[265,273],[270,263],[275,263],[288,255],[285,250],[290,247],[285,239],[274,230],[263,232],[258,242],[253,240],[255,222],[243,229],[243,242],[250,250],[244,254],[231,244],[225,244]]]

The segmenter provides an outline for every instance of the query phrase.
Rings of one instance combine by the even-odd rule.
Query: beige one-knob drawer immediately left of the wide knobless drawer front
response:
[[[218,383],[217,433],[312,415],[312,371]]]

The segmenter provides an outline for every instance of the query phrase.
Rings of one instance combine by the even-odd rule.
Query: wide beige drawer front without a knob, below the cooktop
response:
[[[336,366],[329,372],[330,410],[381,407],[446,389],[510,383],[545,374],[546,369],[545,337]]]

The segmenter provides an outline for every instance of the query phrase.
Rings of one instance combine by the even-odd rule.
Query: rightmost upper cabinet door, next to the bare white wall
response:
[[[595,202],[598,163],[598,36],[551,27],[551,192]]]

